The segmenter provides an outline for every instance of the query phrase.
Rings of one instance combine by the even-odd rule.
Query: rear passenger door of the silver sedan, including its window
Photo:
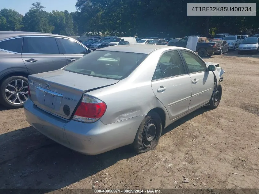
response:
[[[151,86],[158,100],[166,107],[170,120],[188,111],[192,95],[192,82],[178,50],[162,54]]]

